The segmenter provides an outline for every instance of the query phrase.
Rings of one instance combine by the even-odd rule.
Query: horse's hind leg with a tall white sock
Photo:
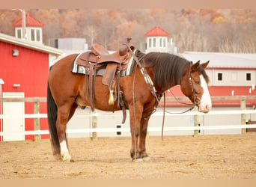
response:
[[[70,105],[68,102],[65,105],[62,105],[58,108],[58,117],[56,120],[56,129],[58,133],[58,141],[60,142],[61,147],[61,158],[63,161],[71,161],[71,156],[67,147],[67,137],[66,129],[67,122],[72,117],[74,113],[74,106]]]

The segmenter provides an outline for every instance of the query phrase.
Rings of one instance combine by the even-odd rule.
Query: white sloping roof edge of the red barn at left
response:
[[[9,36],[7,34],[0,33],[0,41],[3,41],[5,43],[12,43],[16,46],[22,46],[29,49],[34,49],[36,51],[40,52],[46,52],[53,55],[62,55],[63,52],[60,49],[56,49],[50,46],[45,46],[40,43],[34,43],[31,41],[22,40],[16,37]]]

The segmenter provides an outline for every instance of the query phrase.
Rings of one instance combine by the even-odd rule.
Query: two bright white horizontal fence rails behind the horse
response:
[[[239,111],[210,111],[208,114],[204,114],[198,111],[189,111],[186,114],[165,114],[165,117],[171,116],[196,116],[196,115],[225,115],[225,114],[256,114],[256,110],[239,110]],[[82,116],[94,116],[99,117],[103,115],[115,115],[112,113],[94,113],[94,114],[84,114]],[[77,116],[77,115],[76,115]],[[156,112],[152,114],[154,116],[162,116],[162,112]],[[13,117],[24,117],[24,118],[47,118],[47,114],[24,114],[24,115],[0,115],[0,119],[13,118]],[[211,129],[251,129],[256,128],[256,124],[232,124],[232,125],[218,125],[218,126],[174,126],[174,127],[164,127],[164,132],[167,131],[191,131],[191,130],[211,130]],[[162,127],[148,127],[148,132],[161,132]],[[88,129],[67,129],[67,134],[79,134],[79,133],[92,133],[92,132],[129,132],[129,128],[88,128]],[[0,136],[7,133],[23,133],[24,135],[49,135],[48,130],[34,130],[25,132],[0,132]]]

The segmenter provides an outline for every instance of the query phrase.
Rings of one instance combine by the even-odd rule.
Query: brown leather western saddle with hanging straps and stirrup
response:
[[[127,106],[124,102],[124,93],[120,89],[120,75],[122,70],[127,69],[129,60],[132,58],[132,52],[135,49],[129,43],[129,40],[131,38],[127,38],[127,43],[121,45],[120,49],[112,54],[109,54],[107,49],[96,43],[91,47],[91,51],[83,52],[76,58],[76,64],[85,67],[85,99],[90,97],[92,111],[94,111],[94,88],[97,69],[106,67],[102,83],[109,87],[109,105],[114,105],[115,100],[118,99],[118,105],[123,110],[122,123],[126,119]],[[89,76],[89,82],[87,76]]]

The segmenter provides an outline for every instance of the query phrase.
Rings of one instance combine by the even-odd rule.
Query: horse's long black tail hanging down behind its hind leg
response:
[[[55,126],[57,120],[58,108],[55,103],[55,100],[52,97],[52,92],[49,88],[49,82],[47,85],[47,115],[48,115],[48,127],[49,135],[52,144],[53,155],[61,153],[60,143],[58,141],[57,129]]]

